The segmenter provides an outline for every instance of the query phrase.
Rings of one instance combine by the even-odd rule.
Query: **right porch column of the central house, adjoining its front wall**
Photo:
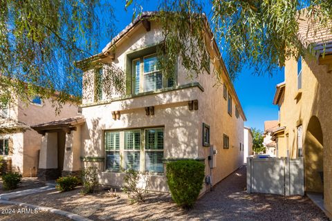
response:
[[[66,133],[66,146],[64,151],[64,170],[62,176],[76,175],[80,177],[81,160],[81,126],[77,126],[76,131]]]

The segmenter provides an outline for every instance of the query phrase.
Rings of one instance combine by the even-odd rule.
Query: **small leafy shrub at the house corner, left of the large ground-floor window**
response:
[[[82,194],[93,193],[98,186],[98,169],[94,166],[89,166],[82,171],[83,189]]]

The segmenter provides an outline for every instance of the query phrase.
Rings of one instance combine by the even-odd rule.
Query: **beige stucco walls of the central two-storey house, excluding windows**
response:
[[[161,41],[160,30],[154,21],[151,21],[151,31],[139,25],[116,46],[113,64],[124,70],[128,52],[156,45]],[[110,61],[104,59],[104,61]],[[187,70],[178,63],[177,86],[190,83],[199,83],[198,86],[172,90],[163,93],[154,93],[142,97],[122,99],[104,103],[93,104],[93,86],[84,87],[82,115],[86,124],[82,126],[83,157],[104,157],[104,131],[123,130],[128,128],[159,127],[165,128],[164,157],[174,158],[205,158],[205,173],[210,174],[208,168],[208,155],[210,148],[203,147],[203,123],[210,126],[210,143],[213,144],[216,154],[216,168],[212,169],[212,181],[216,184],[223,177],[232,173],[243,164],[243,151],[239,144],[243,144],[243,117],[235,117],[236,95],[232,90],[230,81],[223,71],[221,84],[217,82],[216,75],[204,73],[198,78],[190,79]],[[211,64],[212,70],[214,65]],[[219,69],[222,71],[222,68]],[[86,71],[85,78],[92,79],[93,72]],[[232,95],[232,116],[228,115],[227,101],[223,98],[223,82],[226,82]],[[90,81],[93,83],[93,81]],[[112,98],[119,95],[113,95]],[[188,102],[197,99],[199,110],[190,111]],[[145,107],[154,106],[154,115],[145,115]],[[120,111],[120,120],[112,118],[112,111]],[[223,133],[230,137],[230,148],[223,149]],[[121,141],[120,141],[121,142]],[[123,156],[122,156],[123,157]],[[100,182],[113,186],[122,186],[123,173],[104,171],[104,162],[82,162],[82,166],[98,166],[100,169]],[[164,175],[152,175],[150,189],[168,191]],[[205,189],[203,189],[205,191]]]

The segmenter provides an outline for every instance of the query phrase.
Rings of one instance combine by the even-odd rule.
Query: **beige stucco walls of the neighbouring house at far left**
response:
[[[77,106],[64,104],[61,113],[56,115],[55,108],[49,99],[44,99],[42,105],[26,104],[20,99],[14,99],[10,104],[10,119],[22,122],[28,126],[50,122],[77,115]],[[0,122],[1,123],[1,122]],[[37,175],[39,150],[42,145],[42,135],[28,129],[24,133],[1,134],[12,140],[12,170],[19,171],[24,176]]]

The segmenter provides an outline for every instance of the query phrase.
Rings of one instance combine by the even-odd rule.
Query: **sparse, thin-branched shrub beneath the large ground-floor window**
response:
[[[138,172],[133,169],[128,169],[124,175],[123,182],[124,193],[127,193],[131,203],[145,202],[149,192],[147,186],[149,185],[149,173]]]

